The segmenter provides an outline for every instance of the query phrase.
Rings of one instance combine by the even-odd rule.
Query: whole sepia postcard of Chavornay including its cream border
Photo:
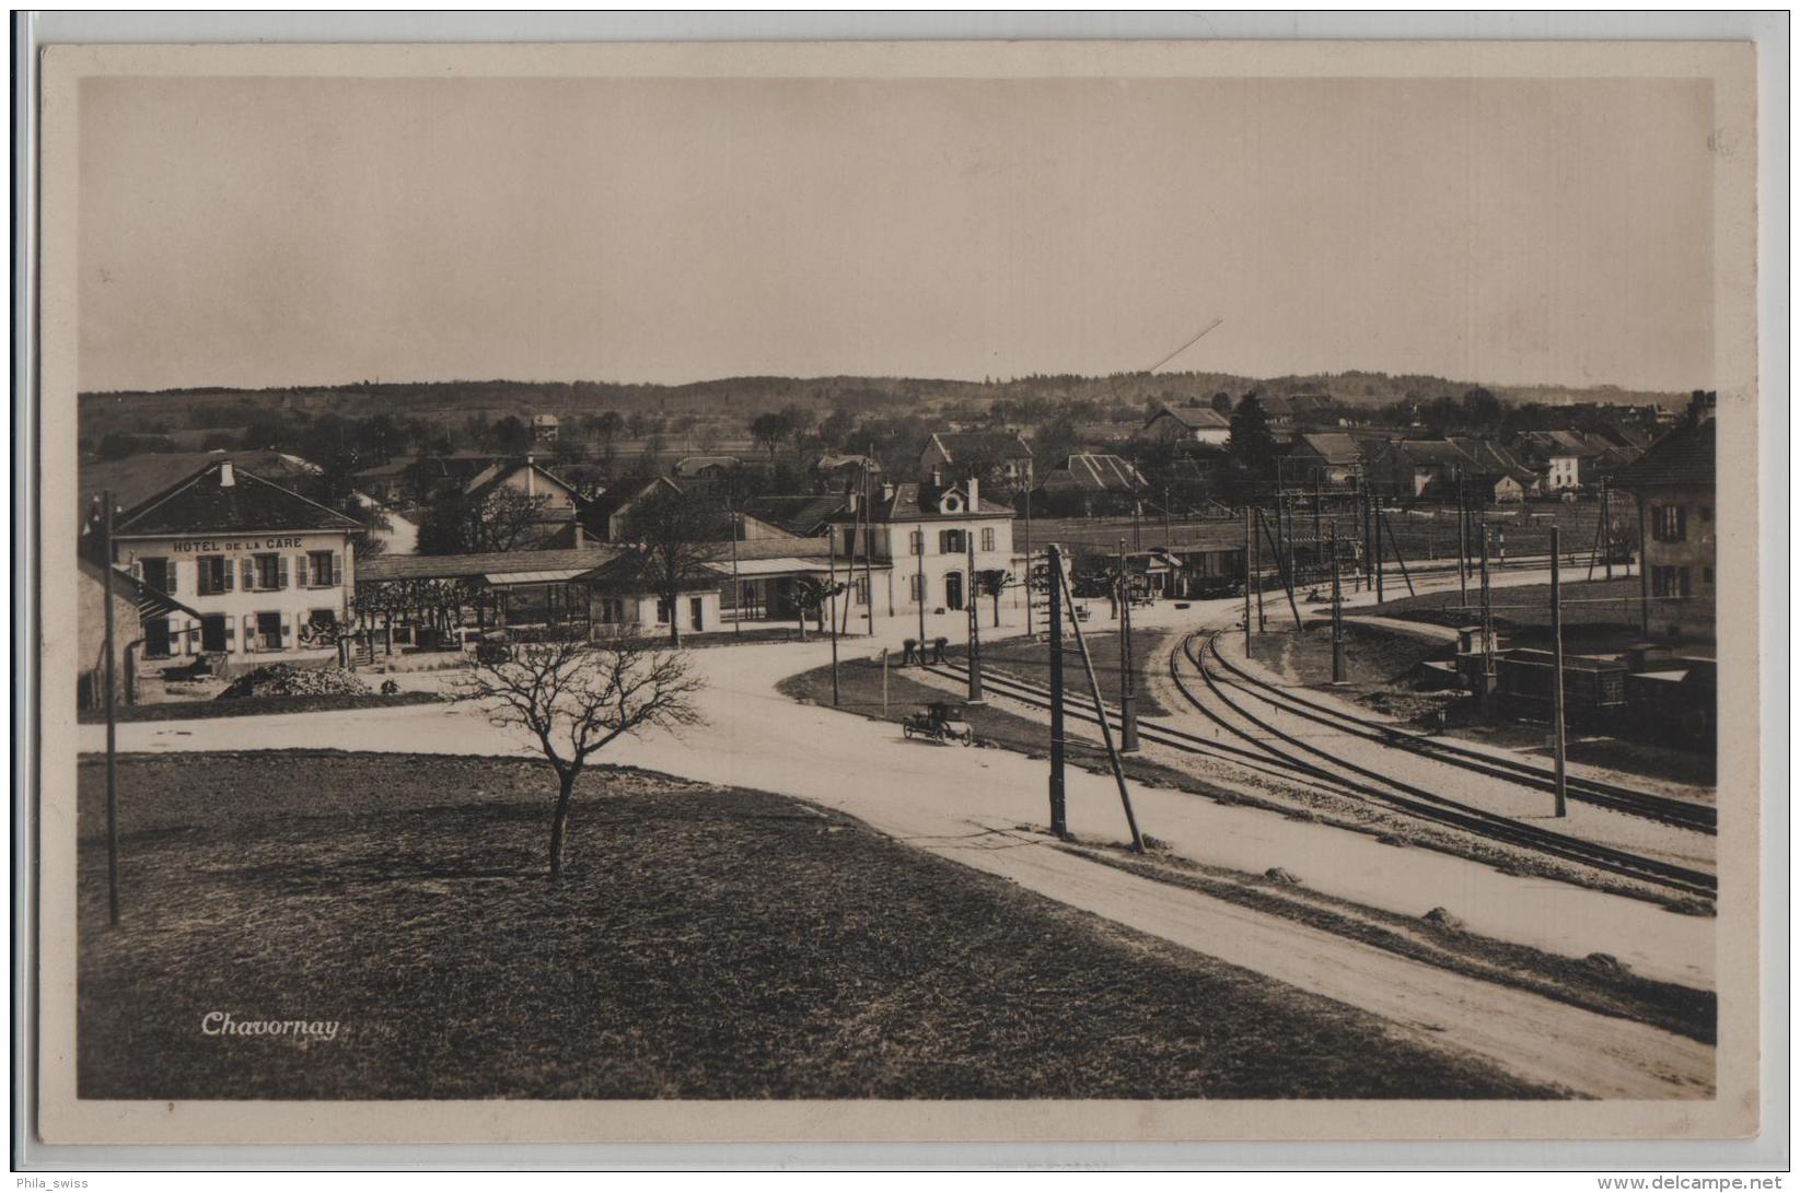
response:
[[[45,1139],[1753,1135],[1755,68],[54,47]]]

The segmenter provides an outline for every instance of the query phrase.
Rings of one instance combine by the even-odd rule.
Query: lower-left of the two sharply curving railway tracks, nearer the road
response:
[[[1193,704],[1208,720],[1219,725],[1222,731],[1253,743],[1256,749],[1271,758],[1289,763],[1294,770],[1310,772],[1321,779],[1330,781],[1334,786],[1350,788],[1364,799],[1372,799],[1397,812],[1406,812],[1409,815],[1435,821],[1438,824],[1447,824],[1460,828],[1463,831],[1485,837],[1489,840],[1499,840],[1512,846],[1521,846],[1546,857],[1557,857],[1570,862],[1579,862],[1582,866],[1591,866],[1615,875],[1624,875],[1636,878],[1640,882],[1649,882],[1672,891],[1681,891],[1687,894],[1697,894],[1712,898],[1717,894],[1719,880],[1714,875],[1690,869],[1687,866],[1678,866],[1674,862],[1663,862],[1658,858],[1647,858],[1625,849],[1615,849],[1613,846],[1597,844],[1591,840],[1582,840],[1579,837],[1570,837],[1568,833],[1557,833],[1553,830],[1539,828],[1535,824],[1526,824],[1507,815],[1487,812],[1444,795],[1436,795],[1424,788],[1413,786],[1391,776],[1382,776],[1366,767],[1359,767],[1352,761],[1334,758],[1328,750],[1309,745],[1271,723],[1264,716],[1244,707],[1244,702],[1233,700],[1226,691],[1226,684],[1219,680],[1213,669],[1208,666],[1204,651],[1195,651],[1195,639],[1201,635],[1190,635],[1183,641],[1181,651],[1170,655],[1170,673],[1175,678],[1175,686],[1181,695]],[[1208,637],[1208,648],[1211,648],[1211,635]],[[1211,650],[1217,657],[1217,650]],[[1213,700],[1201,700],[1188,682],[1183,678],[1179,669],[1179,657],[1186,655],[1188,664],[1199,675],[1201,682],[1211,693]],[[1242,689],[1240,689],[1242,691]],[[1267,700],[1265,696],[1242,693],[1256,700],[1264,700],[1274,707],[1282,707],[1276,700]],[[1229,709],[1229,716],[1220,713],[1220,707]],[[1242,722],[1233,723],[1231,718]],[[1246,729],[1247,725],[1247,729]],[[1276,745],[1280,743],[1280,745]],[[1307,761],[1303,756],[1314,756],[1323,761]],[[1346,774],[1348,772],[1348,774]]]

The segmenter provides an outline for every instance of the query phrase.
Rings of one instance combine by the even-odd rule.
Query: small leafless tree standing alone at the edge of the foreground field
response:
[[[623,628],[599,641],[520,642],[504,660],[479,662],[455,698],[477,700],[495,725],[517,725],[536,738],[556,772],[551,878],[562,878],[569,801],[589,759],[641,729],[702,723],[693,704],[702,687],[686,651],[652,648]]]

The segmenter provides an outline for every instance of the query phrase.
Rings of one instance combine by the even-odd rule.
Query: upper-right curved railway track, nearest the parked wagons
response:
[[[1363,738],[1366,741],[1379,741],[1381,745],[1409,750],[1474,774],[1505,779],[1508,783],[1517,783],[1541,792],[1555,790],[1555,774],[1544,770],[1543,767],[1485,754],[1481,750],[1471,750],[1449,741],[1438,741],[1436,738],[1408,732],[1404,729],[1395,729],[1390,723],[1345,713],[1343,709],[1336,709],[1319,700],[1309,700],[1307,696],[1251,675],[1246,668],[1231,662],[1219,651],[1217,639],[1210,642],[1210,650],[1219,666],[1231,675],[1231,686],[1246,689],[1258,700],[1274,704],[1294,716],[1301,716],[1309,722]],[[1577,777],[1570,777],[1566,781],[1566,790],[1570,799],[1598,808],[1609,808],[1625,815],[1674,824],[1696,833],[1717,835],[1719,831],[1717,808],[1696,804],[1687,799],[1672,799],[1669,795],[1640,792],[1616,783]]]

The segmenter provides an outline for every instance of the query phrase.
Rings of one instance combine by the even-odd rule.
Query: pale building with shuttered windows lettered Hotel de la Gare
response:
[[[113,561],[182,603],[144,619],[144,659],[331,655],[360,529],[229,459],[137,504],[113,522]]]

